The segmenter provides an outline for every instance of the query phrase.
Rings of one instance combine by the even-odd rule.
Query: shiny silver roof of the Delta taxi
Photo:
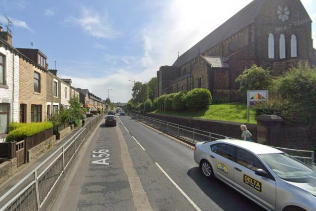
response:
[[[225,142],[225,143],[229,143],[232,145],[235,145],[237,147],[243,148],[245,150],[251,151],[256,155],[260,155],[260,154],[272,154],[272,153],[282,153],[282,151],[267,146],[267,145],[263,145],[263,144],[258,144],[255,142],[250,142],[250,141],[241,141],[241,140],[232,140],[232,139],[225,139],[225,140],[219,140],[218,142]],[[210,142],[210,143],[214,143],[214,142]]]

